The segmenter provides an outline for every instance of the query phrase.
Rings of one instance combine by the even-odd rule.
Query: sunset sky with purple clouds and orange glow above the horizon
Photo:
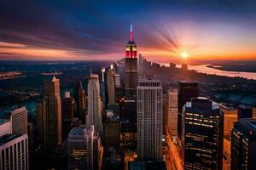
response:
[[[2,0],[0,8],[4,60],[121,59],[131,22],[149,60],[256,59],[254,0]]]

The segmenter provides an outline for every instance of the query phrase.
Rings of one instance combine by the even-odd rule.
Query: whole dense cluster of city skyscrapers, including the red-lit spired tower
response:
[[[164,88],[158,69],[137,59],[131,26],[125,59],[90,71],[86,90],[45,79],[35,123],[25,107],[0,119],[0,170],[256,169],[255,110],[201,97],[199,82]]]

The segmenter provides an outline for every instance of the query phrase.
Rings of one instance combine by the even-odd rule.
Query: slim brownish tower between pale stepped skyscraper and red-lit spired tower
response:
[[[114,104],[115,104],[114,72],[113,72],[113,69],[109,67],[108,68],[108,105],[114,105]]]

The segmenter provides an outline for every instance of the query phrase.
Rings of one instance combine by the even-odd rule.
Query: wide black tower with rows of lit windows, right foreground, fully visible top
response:
[[[218,104],[194,98],[182,112],[184,169],[222,169],[224,115]]]

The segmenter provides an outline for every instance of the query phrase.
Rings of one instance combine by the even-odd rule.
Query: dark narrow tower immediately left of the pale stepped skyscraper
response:
[[[86,95],[84,92],[82,82],[76,82],[76,87],[74,90],[74,99],[77,105],[75,117],[79,117],[82,122],[85,120],[85,111],[86,111]]]

